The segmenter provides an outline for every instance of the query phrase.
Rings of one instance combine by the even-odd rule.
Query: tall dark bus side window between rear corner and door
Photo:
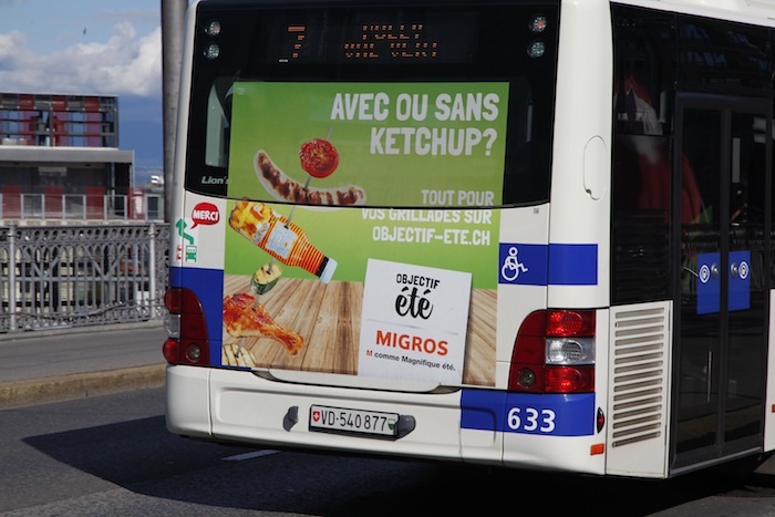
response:
[[[663,23],[628,23],[617,44],[613,85],[611,301],[664,299],[670,292],[670,138],[660,83]]]

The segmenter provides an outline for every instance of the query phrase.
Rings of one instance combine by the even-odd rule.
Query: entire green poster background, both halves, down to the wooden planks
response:
[[[388,105],[390,116],[374,120],[370,106],[354,120],[331,121],[337,94],[385,94],[392,102]],[[457,120],[438,121],[434,116],[434,100],[440,94],[457,95],[495,93],[499,97],[498,116],[493,121]],[[396,117],[394,102],[400,94],[412,99],[428,99],[427,114],[422,121]],[[340,96],[340,99],[343,99]],[[353,99],[351,96],[351,99]],[[406,99],[406,97],[404,97]],[[391,220],[388,208],[382,208],[383,219],[373,208],[334,208],[297,206],[292,221],[302,228],[309,240],[339,262],[333,281],[363,281],[369,258],[414,263],[434,268],[469,271],[473,287],[495,289],[498,263],[498,210],[486,210],[473,217],[485,217],[485,223],[465,223],[468,211],[457,205],[457,193],[475,190],[493,193],[495,205],[502,201],[506,142],[506,113],[508,105],[507,83],[236,83],[231,117],[231,143],[229,157],[228,195],[234,199],[273,200],[259,183],[252,161],[258,149],[268,153],[272,162],[287,175],[303,184],[307,173],[299,159],[300,146],[311,138],[327,138],[337,147],[339,166],[326,178],[312,178],[312,187],[339,187],[356,185],[366,193],[370,207],[420,207],[405,210],[402,216],[433,210],[422,190],[453,192],[453,203],[459,221],[436,223],[417,220]],[[452,106],[452,105],[451,105]],[[459,106],[457,106],[459,107]],[[353,112],[358,113],[358,111]],[[465,107],[457,112],[465,115]],[[371,120],[369,117],[372,116]],[[372,132],[376,128],[437,128],[455,131],[476,128],[494,131],[497,137],[486,153],[488,139],[473,147],[471,155],[416,155],[404,154],[403,143],[399,154],[372,154]],[[275,210],[288,217],[292,206],[273,204]],[[229,203],[228,209],[234,207]],[[459,207],[459,208],[458,208]],[[443,210],[448,211],[448,210]],[[412,214],[410,214],[412,213]],[[395,214],[395,213],[393,213]],[[488,219],[487,219],[488,217]],[[432,228],[435,235],[469,230],[478,237],[479,245],[444,242],[392,241],[381,236],[396,228]],[[454,238],[454,235],[450,235]],[[418,235],[418,234],[417,234]],[[236,231],[226,231],[225,272],[252,275],[267,263],[269,255]],[[283,277],[314,278],[301,268],[283,268]]]

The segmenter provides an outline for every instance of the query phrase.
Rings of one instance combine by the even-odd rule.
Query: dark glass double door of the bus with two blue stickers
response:
[[[763,444],[768,105],[743,97],[678,99],[673,469]]]

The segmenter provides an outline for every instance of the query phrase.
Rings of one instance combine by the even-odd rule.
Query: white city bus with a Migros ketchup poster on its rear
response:
[[[775,447],[764,0],[203,0],[167,426],[669,478]]]

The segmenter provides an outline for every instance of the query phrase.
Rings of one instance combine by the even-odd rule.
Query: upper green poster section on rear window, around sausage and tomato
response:
[[[435,100],[440,94],[465,100],[467,94],[495,93],[499,97],[498,116],[494,121],[436,120]],[[373,102],[352,105],[354,120],[331,120],[337,95],[340,99],[363,99],[366,94],[384,94],[389,116],[378,121]],[[399,97],[427,99],[424,120],[400,121]],[[473,117],[464,111],[463,118]],[[414,103],[414,105],[422,105]],[[448,103],[448,106],[453,104]],[[303,184],[299,148],[312,138],[327,138],[339,152],[339,167],[327,178],[313,178],[312,187],[358,185],[366,192],[371,206],[422,206],[423,189],[490,190],[499,204],[503,192],[506,142],[507,83],[236,83],[231,115],[228,195],[232,198],[269,199],[254,169],[258,149],[288,176]],[[371,117],[371,120],[370,120]],[[414,147],[404,154],[404,142],[396,139],[400,154],[372,154],[373,130],[426,127],[452,132],[473,128],[495,131],[489,155],[489,138],[473,147],[469,156],[416,155]],[[384,141],[383,141],[384,142]],[[385,147],[383,146],[383,149]],[[447,204],[448,206],[450,204]]]

